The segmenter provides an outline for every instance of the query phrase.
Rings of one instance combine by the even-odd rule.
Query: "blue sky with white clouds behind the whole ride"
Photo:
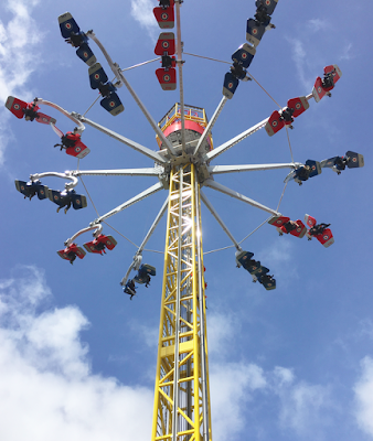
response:
[[[93,29],[113,60],[125,68],[154,58],[160,32],[151,14],[157,2],[109,0],[4,1],[0,7],[0,100],[35,96],[70,111],[85,112],[96,98],[87,66],[61,37],[57,17],[70,11]],[[230,3],[185,1],[184,51],[230,62],[245,42],[254,0]],[[213,437],[241,440],[371,440],[373,438],[372,319],[372,110],[373,6],[361,0],[279,0],[276,30],[266,33],[251,74],[280,105],[308,95],[328,64],[342,78],[332,98],[310,108],[290,132],[294,159],[323,160],[348,150],[365,166],[337,175],[323,170],[302,186],[290,182],[279,211],[292,219],[308,213],[331,224],[328,249],[306,238],[279,237],[264,225],[242,244],[277,280],[275,291],[252,283],[235,268],[234,248],[206,254],[207,333]],[[92,49],[109,73],[104,56]],[[211,117],[221,100],[228,65],[184,55],[185,103]],[[156,120],[179,100],[162,92],[159,64],[131,69],[127,79]],[[154,132],[129,93],[118,92],[125,112],[117,117],[97,104],[87,117],[156,150]],[[242,83],[213,129],[220,146],[268,117],[276,105],[254,83]],[[63,131],[73,126],[43,107]],[[57,137],[36,122],[18,120],[0,108],[2,249],[0,273],[0,427],[3,440],[121,440],[150,438],[162,255],[145,252],[157,268],[151,286],[130,302],[119,281],[136,247],[107,226],[118,246],[106,256],[86,256],[74,266],[56,250],[97,217],[88,207],[56,213],[49,201],[24,201],[14,180],[31,173],[75,170],[76,160],[53,149]],[[83,135],[90,153],[82,170],[152,166],[149,159],[92,128]],[[264,130],[219,157],[214,164],[290,162],[284,130]],[[271,208],[286,171],[239,173],[216,181]],[[63,190],[63,180],[45,179]],[[99,214],[156,183],[152,178],[85,178]],[[86,194],[82,183],[76,189]],[[268,216],[228,196],[204,190],[237,240]],[[140,245],[167,192],[110,218],[120,234]],[[203,208],[204,250],[231,245]],[[162,251],[166,222],[148,248]],[[82,236],[79,245],[90,240]]]

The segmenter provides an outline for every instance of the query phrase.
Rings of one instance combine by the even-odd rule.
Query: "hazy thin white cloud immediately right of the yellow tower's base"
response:
[[[298,439],[324,439],[334,408],[329,387],[299,381],[292,369],[280,366],[264,372],[245,362],[220,363],[210,372],[212,426],[217,441],[238,439],[247,434],[248,426],[259,433],[262,418],[253,419],[258,407],[262,411],[275,409],[278,419],[273,420],[274,431],[278,427]]]

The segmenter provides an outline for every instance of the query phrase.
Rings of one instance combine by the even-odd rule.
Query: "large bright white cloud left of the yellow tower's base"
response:
[[[93,375],[75,306],[49,309],[43,273],[0,281],[1,439],[148,440],[153,391]]]

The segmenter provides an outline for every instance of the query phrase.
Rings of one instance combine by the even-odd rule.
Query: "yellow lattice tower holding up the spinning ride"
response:
[[[200,185],[192,163],[170,174],[152,441],[211,437]]]

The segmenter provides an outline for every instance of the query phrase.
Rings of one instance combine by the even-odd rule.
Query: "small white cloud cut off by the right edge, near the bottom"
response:
[[[362,374],[354,385],[355,418],[361,430],[373,437],[373,359],[361,361]]]

